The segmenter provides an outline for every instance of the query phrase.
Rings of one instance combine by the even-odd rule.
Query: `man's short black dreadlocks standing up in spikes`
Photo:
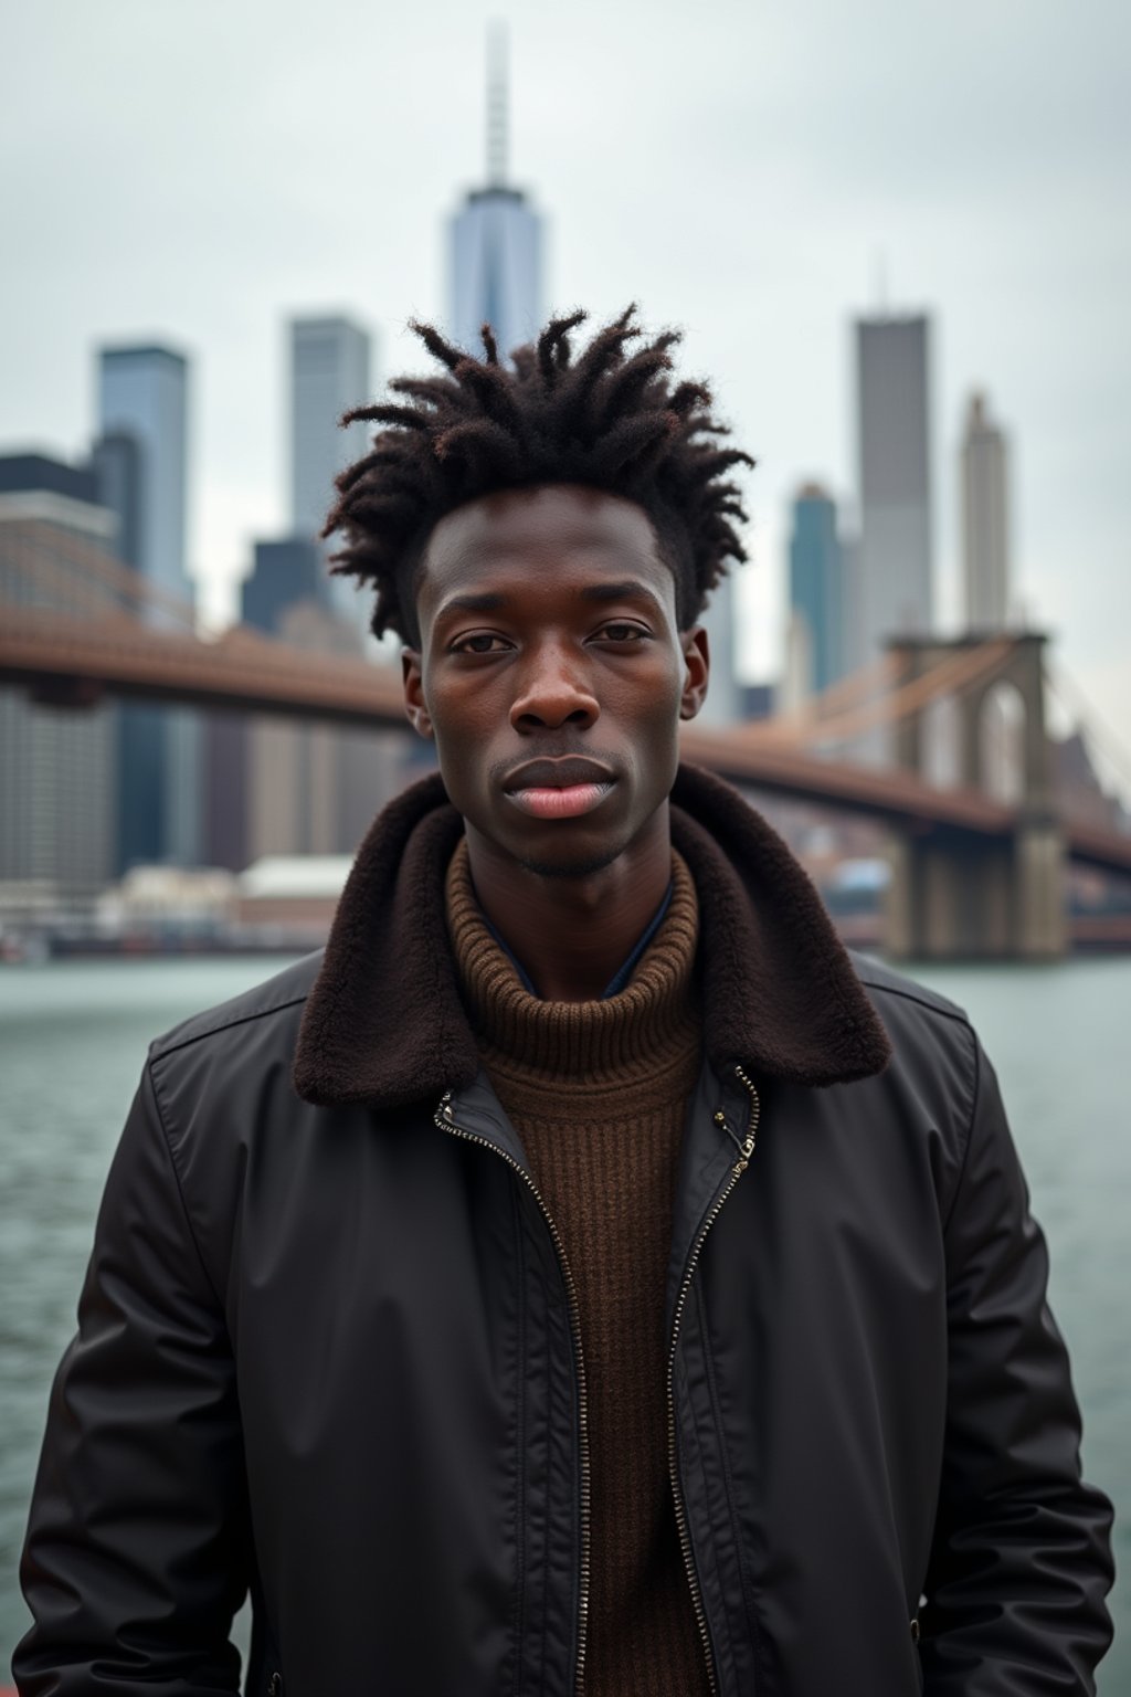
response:
[[[446,370],[397,377],[388,387],[404,400],[343,417],[343,426],[383,426],[370,453],[337,477],[322,531],[344,538],[332,570],[376,587],[375,635],[419,641],[414,577],[432,528],[499,489],[583,484],[636,501],[675,574],[682,630],[702,613],[727,558],[746,558],[734,528],[746,514],[726,473],[755,462],[719,445],[727,431],[710,416],[705,384],[671,382],[680,333],[648,338],[632,305],[575,355],[570,336],[585,317],[553,319],[536,343],[515,348],[512,367],[487,324],[483,358],[475,358],[414,321]]]

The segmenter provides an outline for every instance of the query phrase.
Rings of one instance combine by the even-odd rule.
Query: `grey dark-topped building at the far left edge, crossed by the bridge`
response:
[[[110,611],[115,518],[92,470],[41,453],[0,458],[0,597],[86,618]],[[114,876],[115,718],[0,689],[0,910],[90,910]]]

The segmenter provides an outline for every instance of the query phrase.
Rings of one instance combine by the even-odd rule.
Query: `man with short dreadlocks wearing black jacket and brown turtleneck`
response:
[[[439,777],[154,1044],[51,1403],[25,1697],[1090,1692],[1109,1507],[965,1018],[678,767],[741,555],[673,336],[365,409]]]

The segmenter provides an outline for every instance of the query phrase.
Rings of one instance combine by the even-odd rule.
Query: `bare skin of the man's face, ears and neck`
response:
[[[404,655],[471,877],[548,1001],[602,994],[671,876],[678,723],[707,692],[702,630],[634,501],[571,484],[446,514]]]

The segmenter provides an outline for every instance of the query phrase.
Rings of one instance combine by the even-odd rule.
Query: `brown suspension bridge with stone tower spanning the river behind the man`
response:
[[[202,633],[192,608],[95,543],[53,552],[34,524],[24,538],[19,524],[5,531],[0,686],[71,711],[132,697],[407,731],[392,665],[297,650],[244,624]],[[1046,648],[1034,631],[894,638],[804,711],[685,726],[683,752],[744,789],[880,821],[889,952],[1053,957],[1068,942],[1067,865],[1131,879],[1131,837],[1068,816],[1055,792]],[[1004,782],[985,736],[1002,696],[1014,723]],[[939,781],[943,721],[951,760]],[[880,738],[887,765],[861,757]]]

